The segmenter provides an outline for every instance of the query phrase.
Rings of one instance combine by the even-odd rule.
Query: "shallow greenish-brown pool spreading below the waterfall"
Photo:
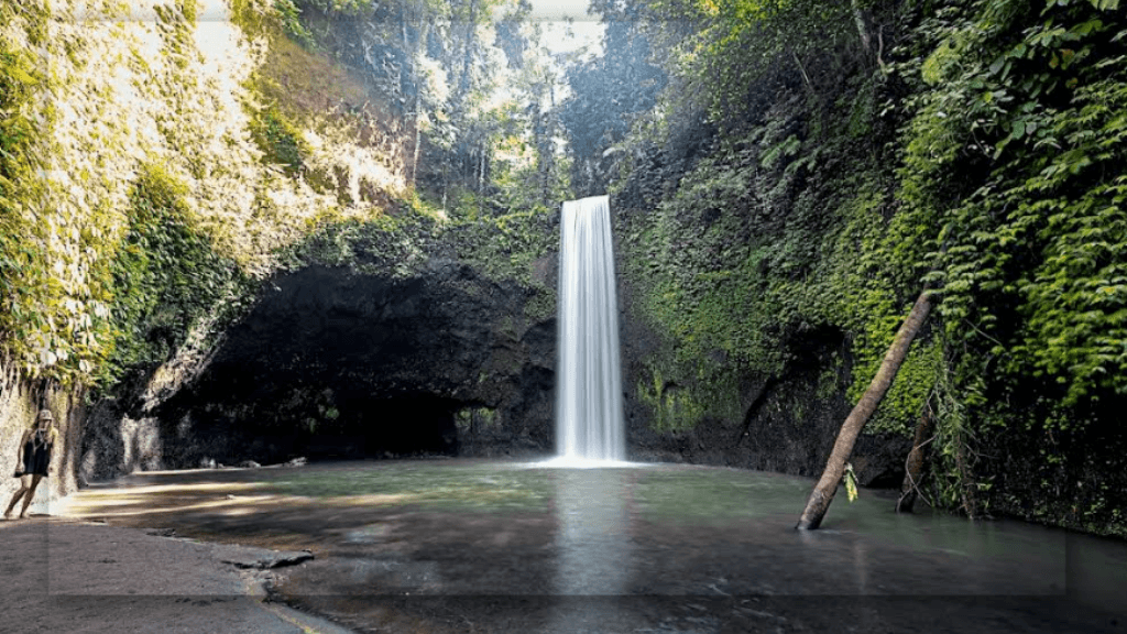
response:
[[[811,486],[677,465],[358,461],[137,474],[70,512],[311,548],[279,592],[365,628],[1125,631],[1122,543],[897,516],[870,491],[798,532]]]

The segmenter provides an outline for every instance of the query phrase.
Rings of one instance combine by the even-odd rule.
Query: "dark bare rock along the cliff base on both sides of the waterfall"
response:
[[[269,280],[175,389],[89,408],[79,479],[296,456],[553,454],[554,308],[544,316],[533,307],[543,297],[529,284],[554,285],[556,255],[533,261],[531,282],[498,281],[442,240],[420,244],[423,256],[406,273],[373,259],[364,267],[311,264]],[[370,259],[389,253],[369,250]],[[824,381],[827,359],[848,356],[842,335],[806,334],[792,346],[801,359],[783,377],[728,368],[738,375],[733,415],[663,428],[638,386],[648,380],[647,360],[676,342],[639,320],[636,281],[623,270],[629,457],[819,473],[849,412],[843,389]],[[728,363],[722,355],[709,362]],[[850,368],[837,371],[840,388]],[[853,464],[862,484],[895,485],[906,454],[904,439],[862,437]]]

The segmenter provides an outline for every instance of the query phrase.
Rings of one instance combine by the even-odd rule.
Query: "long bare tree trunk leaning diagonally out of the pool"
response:
[[[925,289],[920,293],[915,306],[908,312],[908,318],[904,320],[900,329],[896,333],[896,338],[893,340],[893,345],[889,346],[888,352],[885,354],[885,360],[880,363],[877,376],[869,384],[869,389],[864,390],[864,396],[861,397],[861,400],[858,400],[853,411],[850,412],[845,422],[842,423],[842,429],[837,432],[837,440],[829,452],[829,460],[826,461],[826,469],[822,473],[818,484],[814,486],[810,499],[806,502],[806,510],[802,511],[802,517],[798,520],[797,528],[799,530],[814,530],[822,525],[822,518],[825,517],[826,510],[829,509],[829,503],[834,500],[834,493],[837,492],[837,484],[845,472],[845,460],[853,452],[853,444],[857,442],[857,437],[860,435],[861,429],[872,417],[872,413],[880,405],[880,399],[885,397],[885,393],[893,385],[893,379],[896,378],[896,372],[900,369],[900,364],[904,363],[904,358],[912,345],[912,340],[915,338],[916,333],[920,332],[920,326],[923,325],[924,320],[928,319],[928,314],[931,312],[931,291]]]

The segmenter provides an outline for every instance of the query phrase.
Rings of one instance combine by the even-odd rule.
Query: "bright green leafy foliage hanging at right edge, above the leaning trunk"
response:
[[[1100,3],[1031,12],[980,1],[949,18],[903,192],[911,222],[941,228],[916,266],[942,282],[948,336],[1002,381],[1044,378],[1077,404],[1127,394],[1125,32]]]

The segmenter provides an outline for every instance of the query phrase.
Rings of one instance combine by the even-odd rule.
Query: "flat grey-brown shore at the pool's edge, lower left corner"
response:
[[[150,632],[348,634],[272,598],[281,552],[33,514],[0,522],[0,623],[11,634]]]

